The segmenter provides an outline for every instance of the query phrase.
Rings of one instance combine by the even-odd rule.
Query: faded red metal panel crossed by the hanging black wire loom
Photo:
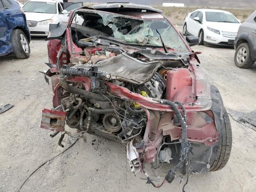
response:
[[[171,140],[179,140],[182,135],[182,128],[173,124],[173,112],[165,112],[159,123],[159,130],[163,130],[163,135],[170,135]],[[204,143],[206,146],[215,144],[220,133],[216,129],[215,122],[209,124],[198,115],[197,112],[188,112],[188,141]]]

